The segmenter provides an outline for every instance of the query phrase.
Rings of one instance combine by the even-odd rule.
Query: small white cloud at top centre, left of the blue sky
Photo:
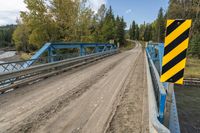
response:
[[[89,5],[92,10],[96,13],[102,4],[106,4],[106,0],[89,0]]]

